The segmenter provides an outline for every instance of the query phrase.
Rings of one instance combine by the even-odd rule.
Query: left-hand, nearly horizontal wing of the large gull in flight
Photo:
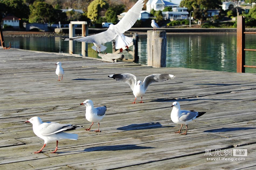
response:
[[[72,37],[72,38],[65,38],[64,41],[68,40],[74,40],[74,41],[80,41],[80,42],[95,42],[96,44],[104,44],[106,42],[110,42],[116,38],[116,34],[113,32],[113,30],[108,29],[106,31],[103,31],[99,34],[94,34],[87,37]]]

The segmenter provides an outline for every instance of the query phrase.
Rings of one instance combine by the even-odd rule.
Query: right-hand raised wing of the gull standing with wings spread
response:
[[[155,83],[155,82],[164,82],[166,80],[169,79],[174,79],[174,75],[170,75],[170,74],[153,74],[153,75],[149,75],[147,77],[145,77],[142,86],[144,87],[144,90],[147,90],[148,86],[151,83]]]

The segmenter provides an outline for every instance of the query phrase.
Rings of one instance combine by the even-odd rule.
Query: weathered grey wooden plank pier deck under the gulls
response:
[[[65,71],[55,74],[56,62]],[[108,78],[132,73],[138,79],[170,73],[175,79],[155,83],[131,104],[130,87]],[[255,169],[256,75],[186,68],[152,68],[135,63],[107,63],[90,58],[26,50],[0,49],[0,169]],[[106,105],[102,132],[71,131],[78,140],[47,144],[24,121],[91,124],[85,119],[86,99]],[[182,109],[205,111],[188,125],[188,134],[171,121],[172,102]],[[97,125],[92,126],[92,130]],[[184,132],[185,129],[182,129]],[[211,149],[212,156],[205,150]],[[215,149],[247,149],[241,161],[207,161]],[[233,154],[233,151],[232,151]]]

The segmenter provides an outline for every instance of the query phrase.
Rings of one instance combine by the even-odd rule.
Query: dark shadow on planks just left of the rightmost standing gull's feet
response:
[[[174,126],[162,126],[159,122],[150,122],[150,123],[140,123],[140,124],[131,124],[128,126],[123,126],[120,128],[117,128],[117,130],[141,130],[141,129],[156,129],[156,128],[168,128],[168,127],[174,127]]]

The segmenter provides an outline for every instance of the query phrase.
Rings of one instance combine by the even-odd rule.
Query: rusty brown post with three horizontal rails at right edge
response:
[[[245,73],[245,67],[256,68],[256,66],[245,65],[245,51],[256,51],[256,49],[245,48],[245,34],[256,34],[256,32],[245,32],[245,17],[237,17],[237,73]]]

